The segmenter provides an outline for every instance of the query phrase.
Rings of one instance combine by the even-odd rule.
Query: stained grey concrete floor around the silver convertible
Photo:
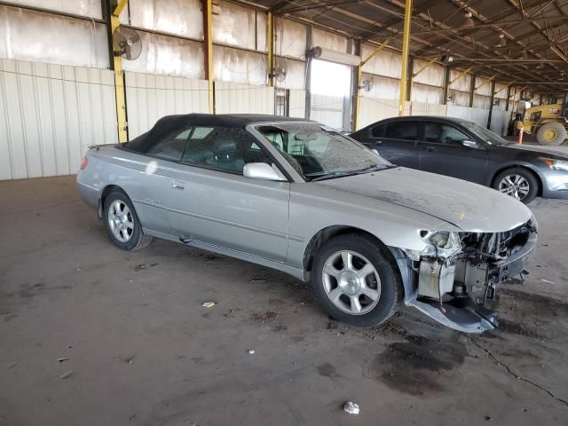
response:
[[[531,207],[531,275],[473,336],[409,310],[337,326],[280,272],[114,248],[74,177],[1,182],[0,425],[565,426],[568,201]]]

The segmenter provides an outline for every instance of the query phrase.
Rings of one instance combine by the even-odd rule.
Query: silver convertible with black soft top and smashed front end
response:
[[[117,247],[157,237],[263,264],[312,281],[323,308],[357,326],[404,300],[448,327],[492,329],[499,284],[526,273],[536,242],[519,201],[271,115],[166,116],[91,147],[77,183]]]

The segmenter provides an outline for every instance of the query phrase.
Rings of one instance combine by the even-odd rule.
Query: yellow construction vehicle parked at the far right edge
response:
[[[568,93],[562,104],[531,106],[525,111],[523,131],[535,134],[541,145],[558,146],[564,142],[568,132]]]

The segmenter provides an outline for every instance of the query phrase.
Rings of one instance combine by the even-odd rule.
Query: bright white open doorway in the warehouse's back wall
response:
[[[337,130],[351,128],[351,67],[312,59],[310,118]]]

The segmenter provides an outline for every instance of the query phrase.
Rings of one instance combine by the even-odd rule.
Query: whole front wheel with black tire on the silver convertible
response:
[[[312,265],[313,289],[326,312],[358,327],[383,323],[397,311],[402,282],[377,241],[344,234],[326,241]]]

